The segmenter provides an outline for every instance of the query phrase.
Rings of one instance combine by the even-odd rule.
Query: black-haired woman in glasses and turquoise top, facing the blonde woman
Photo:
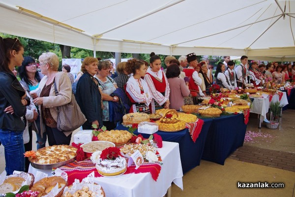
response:
[[[28,93],[30,91],[36,91],[39,87],[39,83],[41,79],[44,77],[41,72],[37,71],[37,64],[35,63],[35,60],[32,57],[24,57],[24,62],[22,63],[22,66],[19,67],[19,75],[21,78],[21,84],[25,87]],[[36,99],[37,93],[32,93],[30,96],[33,99]],[[36,105],[38,109],[38,105]],[[40,148],[45,147],[45,143],[47,140],[47,134],[46,132],[43,133],[43,137],[41,137],[40,134],[40,114],[38,114],[37,120],[32,123],[32,130],[36,132],[37,137],[37,150]]]

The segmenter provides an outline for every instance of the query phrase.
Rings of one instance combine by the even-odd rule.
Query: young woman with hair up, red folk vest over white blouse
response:
[[[169,109],[170,88],[166,74],[161,70],[161,59],[153,55],[149,59],[149,67],[144,80],[148,84],[153,100],[151,101],[151,112],[155,113],[157,109]]]

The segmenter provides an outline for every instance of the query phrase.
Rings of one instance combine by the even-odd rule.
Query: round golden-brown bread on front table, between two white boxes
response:
[[[97,135],[98,140],[113,142],[116,146],[126,144],[132,137],[132,134],[125,130],[111,130],[100,132]]]

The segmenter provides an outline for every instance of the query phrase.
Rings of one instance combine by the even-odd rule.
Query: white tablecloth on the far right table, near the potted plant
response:
[[[279,95],[273,95],[271,102],[279,101]],[[266,113],[268,112],[269,108],[269,98],[254,98],[250,112],[260,114],[260,122],[262,123],[266,119]],[[288,99],[286,92],[283,92],[282,99],[280,100],[280,105],[285,106],[288,104]]]

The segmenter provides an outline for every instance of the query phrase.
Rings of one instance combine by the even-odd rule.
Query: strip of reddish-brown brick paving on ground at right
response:
[[[244,145],[236,149],[230,159],[265,165],[295,172],[295,154]]]

